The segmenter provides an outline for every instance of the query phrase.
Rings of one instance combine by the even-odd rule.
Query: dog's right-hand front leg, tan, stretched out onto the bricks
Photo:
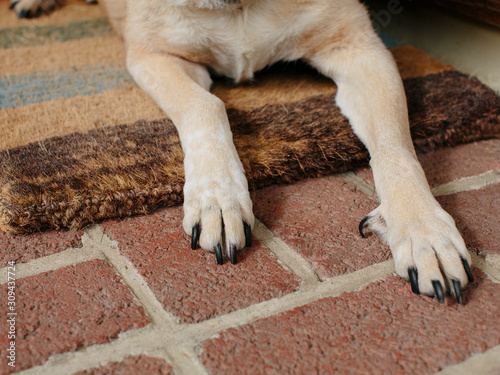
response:
[[[337,104],[370,152],[381,204],[368,215],[367,225],[390,245],[396,272],[410,280],[415,293],[443,302],[448,290],[461,302],[462,288],[473,280],[470,256],[417,160],[391,54],[371,29],[357,32],[309,61],[335,80]]]

